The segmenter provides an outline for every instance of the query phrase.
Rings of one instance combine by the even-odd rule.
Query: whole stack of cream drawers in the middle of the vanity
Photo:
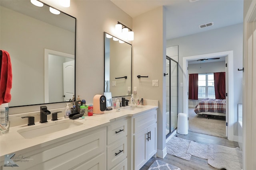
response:
[[[107,127],[107,169],[127,170],[127,119]]]

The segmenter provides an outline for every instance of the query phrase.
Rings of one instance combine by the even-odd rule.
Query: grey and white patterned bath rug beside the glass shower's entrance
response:
[[[187,153],[190,141],[179,137],[172,137],[166,143],[167,153],[178,158],[190,160],[191,154]]]

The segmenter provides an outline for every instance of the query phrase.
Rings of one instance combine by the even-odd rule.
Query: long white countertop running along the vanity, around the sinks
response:
[[[93,116],[86,116],[85,119],[75,119],[73,121],[78,121],[83,124],[47,135],[42,135],[40,137],[34,137],[32,139],[25,139],[17,131],[27,127],[40,126],[42,124],[52,123],[53,121],[48,120],[47,123],[35,122],[35,125],[32,126],[28,126],[27,124],[25,124],[10,127],[9,133],[0,135],[0,156],[10,154],[18,150],[27,149],[36,145],[40,145],[41,147],[43,147],[44,145],[50,145],[49,143],[51,142],[55,143],[58,142],[58,140],[62,141],[72,137],[72,135],[78,135],[78,133],[86,133],[86,131],[106,126],[106,124],[110,123],[111,121],[115,121],[124,117],[134,116],[145,111],[150,111],[158,108],[158,106],[147,105],[143,107],[138,107],[134,110],[130,110],[127,109],[128,107],[129,106],[122,107],[121,111],[116,111],[115,109],[113,109],[110,111],[105,111],[105,113],[103,114],[93,114]],[[57,121],[63,121],[66,119],[68,118],[58,118]]]

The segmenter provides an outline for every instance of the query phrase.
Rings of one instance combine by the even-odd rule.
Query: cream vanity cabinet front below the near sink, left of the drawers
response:
[[[19,170],[106,170],[106,127],[20,150],[15,156],[29,158],[16,162]]]

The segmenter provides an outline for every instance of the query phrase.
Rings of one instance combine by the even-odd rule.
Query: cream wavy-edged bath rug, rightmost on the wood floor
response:
[[[208,159],[208,164],[217,169],[241,170],[242,151],[240,148],[230,148],[213,145],[214,160]]]

